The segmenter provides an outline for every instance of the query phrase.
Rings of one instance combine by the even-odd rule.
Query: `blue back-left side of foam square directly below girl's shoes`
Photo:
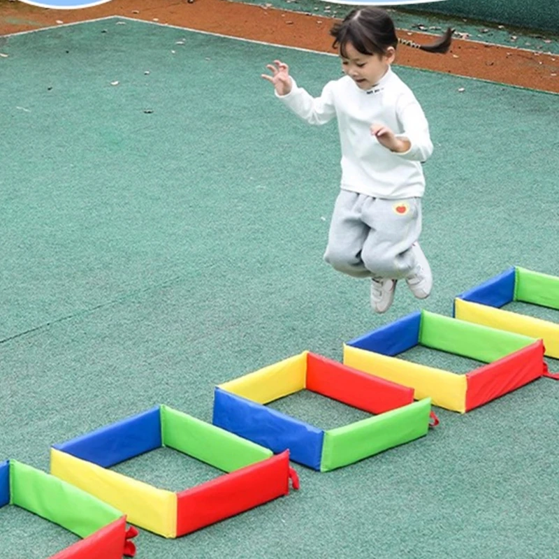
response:
[[[395,356],[419,344],[421,311],[408,314],[391,324],[347,342],[351,347],[375,351],[377,354]]]

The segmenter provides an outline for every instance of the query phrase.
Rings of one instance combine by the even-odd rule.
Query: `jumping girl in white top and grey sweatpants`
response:
[[[453,30],[430,45],[398,39],[380,8],[357,8],[331,29],[345,74],[321,96],[298,87],[289,67],[275,60],[262,77],[275,95],[310,124],[334,117],[342,148],[341,191],[335,202],[324,259],[335,270],[371,279],[370,301],[386,312],[398,279],[424,299],[433,276],[419,247],[421,163],[433,152],[427,119],[411,89],[392,71],[398,43],[447,52]]]

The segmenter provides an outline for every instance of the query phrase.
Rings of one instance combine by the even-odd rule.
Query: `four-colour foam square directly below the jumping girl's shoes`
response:
[[[416,345],[487,364],[457,375],[397,357]],[[416,399],[432,398],[433,405],[460,413],[546,375],[542,340],[427,311],[347,342],[344,363],[410,386]]]

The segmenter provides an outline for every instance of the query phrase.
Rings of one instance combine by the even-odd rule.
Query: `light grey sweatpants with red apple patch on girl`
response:
[[[354,277],[402,279],[421,233],[421,198],[386,200],[348,190],[334,206],[324,260]]]

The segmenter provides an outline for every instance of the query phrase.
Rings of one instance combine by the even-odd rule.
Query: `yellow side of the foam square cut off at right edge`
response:
[[[455,299],[454,305],[457,319],[542,339],[546,355],[559,358],[559,324],[463,299]]]

